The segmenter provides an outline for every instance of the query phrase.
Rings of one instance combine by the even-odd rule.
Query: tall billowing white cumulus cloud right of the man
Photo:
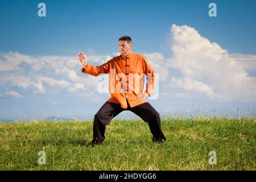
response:
[[[204,93],[216,101],[255,99],[255,79],[248,76],[246,66],[239,65],[241,60],[246,60],[245,55],[230,55],[188,26],[173,24],[167,41],[172,57],[166,59],[166,63],[182,75],[170,79],[167,84],[170,88]],[[251,65],[255,64],[254,56],[247,58]]]

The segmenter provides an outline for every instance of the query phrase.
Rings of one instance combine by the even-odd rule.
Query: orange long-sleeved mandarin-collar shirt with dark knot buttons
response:
[[[152,96],[154,89],[154,69],[146,60],[146,57],[130,52],[129,55],[119,55],[100,66],[86,65],[83,73],[92,76],[109,74],[109,92],[111,98],[108,102],[120,104],[127,108],[127,102],[131,107],[147,102],[145,98],[137,98],[142,94],[144,77],[147,77],[146,92]]]

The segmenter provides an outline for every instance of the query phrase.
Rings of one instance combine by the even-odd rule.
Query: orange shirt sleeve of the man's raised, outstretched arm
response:
[[[112,63],[112,60],[109,60],[108,62],[100,65],[100,66],[93,66],[90,64],[86,65],[86,69],[82,68],[82,73],[86,73],[88,75],[92,76],[98,76],[100,74],[108,74],[110,70],[110,64]]]

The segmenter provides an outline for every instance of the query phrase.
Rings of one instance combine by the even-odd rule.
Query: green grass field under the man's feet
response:
[[[166,142],[142,120],[112,121],[90,146],[92,122],[0,123],[1,170],[255,170],[255,119],[162,119]],[[38,164],[39,151],[46,164]],[[217,164],[209,164],[210,151]]]

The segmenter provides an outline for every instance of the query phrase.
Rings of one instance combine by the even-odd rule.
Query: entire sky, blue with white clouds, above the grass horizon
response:
[[[40,2],[46,4],[46,17],[38,16]],[[217,17],[208,16],[210,2],[217,5]],[[133,51],[147,55],[156,71],[162,71],[161,66],[167,68],[159,75],[160,93],[164,94],[150,101],[157,110],[193,110],[195,105],[208,109],[231,107],[234,111],[237,107],[255,108],[255,7],[256,1],[249,0],[1,1],[0,118],[96,113],[109,94],[98,94],[85,85],[103,78],[83,75],[75,57],[84,51],[91,56],[88,63],[104,63],[118,52],[117,40],[122,35],[131,36]],[[184,42],[175,31],[194,39]],[[175,41],[168,42],[168,38]],[[188,59],[191,50],[182,54],[173,48],[195,46],[193,42],[200,44],[202,38],[220,47],[205,42],[201,45],[204,49],[196,49],[192,65],[197,66],[190,67],[198,69],[196,75],[181,67],[192,63]],[[205,64],[205,50],[215,54],[209,59],[212,63]],[[224,55],[221,63],[213,64],[219,60],[218,54]],[[52,67],[54,64],[57,66]],[[208,71],[211,76],[200,72],[208,66],[220,70],[219,75],[225,78],[214,75],[214,71]],[[51,78],[63,81],[52,84]],[[203,89],[188,88],[189,84]]]

